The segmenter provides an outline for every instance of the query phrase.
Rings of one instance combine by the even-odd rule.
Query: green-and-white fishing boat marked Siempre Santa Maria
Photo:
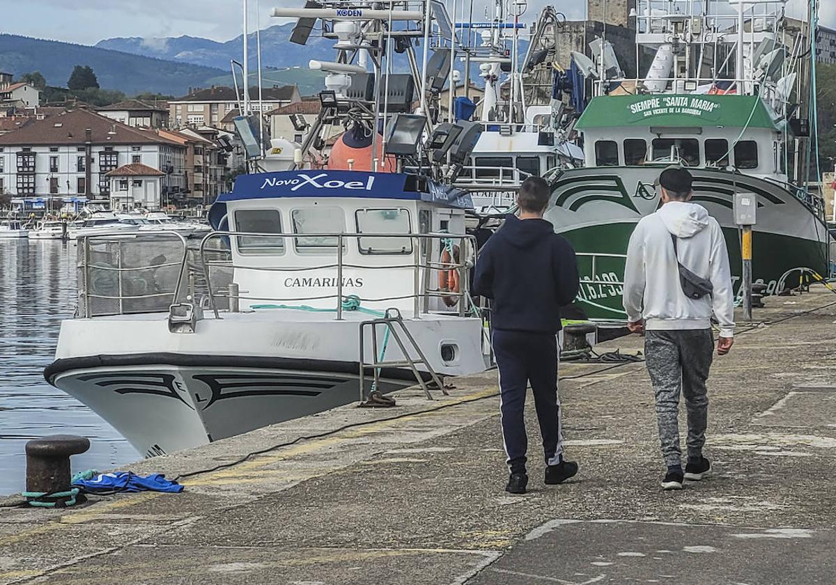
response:
[[[805,270],[828,273],[823,205],[802,188],[799,162],[809,37],[793,37],[776,6],[640,0],[637,54],[655,55],[642,79],[624,79],[601,39],[594,61],[573,53],[593,88],[575,125],[585,165],[558,173],[546,219],[578,252],[590,318],[623,322],[624,253],[636,222],[660,206],[655,181],[668,165],[691,171],[692,201],[720,222],[738,295],[736,197],[757,201],[752,271],[767,294]]]

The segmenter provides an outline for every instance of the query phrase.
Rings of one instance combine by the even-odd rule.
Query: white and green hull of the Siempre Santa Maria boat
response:
[[[546,219],[572,243],[579,255],[578,303],[589,318],[626,318],[624,254],[636,223],[660,206],[652,185],[654,167],[599,167],[569,170],[553,184]],[[753,226],[752,274],[767,285],[767,294],[798,284],[799,268],[826,274],[829,236],[823,222],[791,191],[772,181],[723,170],[691,169],[693,200],[720,223],[740,293],[740,238],[732,214],[736,193],[757,200]]]

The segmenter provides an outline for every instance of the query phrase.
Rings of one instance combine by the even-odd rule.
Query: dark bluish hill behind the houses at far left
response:
[[[102,88],[119,89],[126,94],[160,92],[182,95],[190,87],[205,87],[207,79],[225,73],[222,69],[182,61],[0,34],[0,71],[15,75],[40,71],[48,84],[63,86],[77,64],[92,67]]]

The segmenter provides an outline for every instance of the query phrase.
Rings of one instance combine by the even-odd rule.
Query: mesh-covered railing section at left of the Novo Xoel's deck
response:
[[[176,231],[78,240],[78,317],[168,311],[186,277],[188,246]]]

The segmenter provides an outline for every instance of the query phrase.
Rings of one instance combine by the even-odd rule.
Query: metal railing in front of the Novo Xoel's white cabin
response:
[[[298,241],[308,238],[318,238],[318,239],[327,239],[334,242],[334,244],[327,244],[327,245],[319,245],[317,247],[321,247],[326,249],[326,252],[322,254],[310,254],[310,258],[313,260],[316,257],[328,256],[333,257],[333,262],[325,262],[319,263],[315,265],[306,265],[306,266],[294,266],[291,262],[287,262],[287,260],[283,257],[283,252],[277,252],[270,254],[270,253],[258,253],[252,255],[246,254],[237,254],[237,262],[233,262],[232,259],[229,261],[207,261],[206,260],[206,253],[209,252],[211,249],[207,249],[207,243],[212,242],[212,240],[218,238],[226,238],[227,241],[229,238],[236,237],[254,237],[254,238],[270,238],[271,240],[275,241],[278,238],[282,239],[282,246],[281,249],[283,251],[287,251],[290,242],[296,242],[295,246],[298,247]],[[410,243],[411,252],[408,253],[397,253],[397,252],[377,252],[377,253],[370,253],[369,257],[373,257],[375,259],[380,259],[381,257],[389,257],[389,258],[406,258],[410,257],[411,262],[369,262],[364,264],[358,263],[351,263],[346,262],[346,255],[352,254],[356,256],[360,256],[359,254],[359,241],[362,239],[383,239],[386,240],[397,240],[400,239],[402,241],[406,241]],[[240,242],[240,240],[239,240]],[[458,243],[455,243],[458,242]],[[231,243],[231,242],[230,242]],[[436,244],[437,244],[437,251],[436,251]],[[349,252],[349,245],[351,247]],[[357,246],[354,249],[354,246]],[[455,259],[455,248],[454,252],[450,254],[451,262],[441,262],[441,255],[445,249],[449,251],[450,247],[457,247],[458,248],[458,256],[459,259],[456,261]],[[426,233],[426,234],[404,234],[404,233],[348,233],[348,232],[332,232],[332,233],[308,233],[308,234],[300,234],[300,233],[265,233],[265,232],[248,232],[248,231],[213,231],[212,233],[207,234],[201,240],[200,246],[197,248],[196,251],[196,258],[200,263],[200,272],[202,277],[206,283],[206,298],[209,303],[209,310],[214,313],[216,318],[220,318],[220,312],[218,310],[218,303],[216,298],[226,298],[232,300],[232,295],[229,293],[228,288],[227,292],[218,289],[217,287],[212,286],[212,267],[223,267],[227,270],[232,270],[232,272],[238,271],[247,271],[247,272],[310,272],[314,270],[335,270],[335,280],[336,285],[333,288],[333,293],[323,294],[323,295],[308,295],[303,297],[270,297],[264,293],[258,292],[242,292],[235,296],[234,304],[237,304],[240,299],[250,299],[253,301],[257,301],[258,303],[300,303],[300,302],[312,302],[312,301],[334,301],[334,311],[336,313],[336,318],[341,320],[343,318],[344,310],[347,310],[344,307],[344,300],[346,298],[345,289],[346,286],[344,284],[344,271],[346,268],[349,269],[359,269],[359,270],[370,270],[370,271],[385,271],[385,270],[393,270],[393,269],[410,269],[413,275],[413,286],[412,292],[409,294],[395,294],[390,296],[384,297],[362,297],[357,296],[357,300],[359,303],[384,303],[384,302],[394,302],[394,301],[404,301],[407,299],[412,300],[413,311],[415,318],[420,318],[421,313],[429,313],[430,308],[430,300],[431,298],[456,298],[456,303],[454,306],[457,305],[458,313],[460,316],[465,316],[466,313],[472,310],[471,302],[470,302],[470,293],[469,293],[469,283],[470,283],[470,270],[474,265],[475,262],[475,252],[476,252],[476,237],[467,236],[467,235],[459,235],[459,234],[448,234],[448,233]],[[439,258],[437,261],[433,260],[433,257]],[[355,257],[356,257],[355,256]],[[271,260],[274,260],[269,266],[259,266],[253,263],[254,258],[264,258],[269,257]],[[294,258],[299,258],[300,256],[294,256]],[[284,261],[284,262],[283,262]],[[380,263],[378,263],[380,262]],[[458,276],[458,281],[460,283],[460,290],[459,292],[453,292],[448,290],[441,290],[440,288],[433,288],[430,287],[431,282],[431,273],[432,271],[449,271],[449,272],[456,272]],[[230,279],[232,280],[232,279]],[[179,298],[181,296],[181,286],[178,286],[175,297]],[[243,296],[243,295],[247,296]]]

